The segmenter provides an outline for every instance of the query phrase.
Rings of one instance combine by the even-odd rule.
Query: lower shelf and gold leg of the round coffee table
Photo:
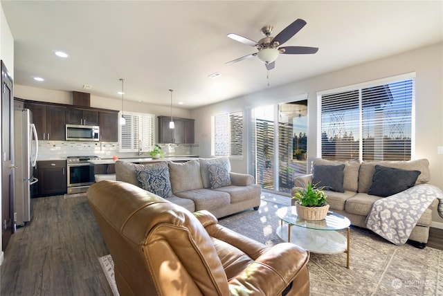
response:
[[[293,226],[280,221],[277,228],[277,235],[283,241],[296,243],[301,248],[309,252],[318,254],[337,254],[345,252],[346,268],[349,268],[349,246],[350,246],[350,228],[347,228],[347,236],[334,230],[313,230]]]

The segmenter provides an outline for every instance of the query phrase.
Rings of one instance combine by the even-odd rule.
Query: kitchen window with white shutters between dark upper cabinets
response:
[[[120,151],[149,151],[154,146],[155,116],[125,112],[126,124],[120,125]]]

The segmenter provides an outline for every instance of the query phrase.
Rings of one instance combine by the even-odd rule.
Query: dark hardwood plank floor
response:
[[[112,295],[98,257],[109,252],[85,196],[33,199],[33,220],[12,235],[1,295]],[[428,246],[443,250],[443,230]]]

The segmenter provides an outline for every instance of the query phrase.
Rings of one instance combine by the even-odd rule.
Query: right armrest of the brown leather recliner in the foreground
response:
[[[296,295],[309,295],[309,252],[292,243],[278,243],[228,281],[231,295],[282,295],[291,281]],[[293,294],[293,293],[291,293]]]

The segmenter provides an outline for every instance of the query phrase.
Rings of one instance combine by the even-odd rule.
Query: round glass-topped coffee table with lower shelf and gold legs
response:
[[[349,268],[351,222],[345,216],[329,211],[324,220],[305,220],[297,216],[294,206],[278,209],[277,216],[280,218],[280,226],[277,228],[277,235],[280,239],[296,243],[301,248],[313,253],[345,252],[347,255],[346,268]],[[338,230],[345,229],[347,237],[338,232]]]

